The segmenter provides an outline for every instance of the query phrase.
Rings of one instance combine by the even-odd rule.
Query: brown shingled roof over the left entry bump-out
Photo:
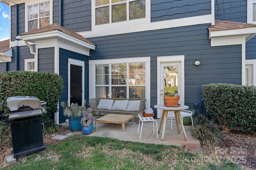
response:
[[[30,34],[36,34],[36,33],[44,33],[44,32],[47,32],[47,31],[53,31],[53,30],[59,30],[63,33],[66,33],[67,35],[70,35],[74,38],[77,38],[77,39],[80,39],[86,43],[89,43],[91,45],[95,45],[94,43],[92,43],[91,41],[89,41],[88,39],[84,38],[82,35],[79,35],[78,33],[74,33],[73,31],[70,31],[69,29],[66,29],[56,23],[53,23],[53,24],[50,24],[48,26],[45,26],[45,27],[42,27],[42,28],[39,28],[39,29],[35,29],[35,30],[32,30],[32,31],[28,31],[26,33],[22,33],[21,35],[30,35]]]

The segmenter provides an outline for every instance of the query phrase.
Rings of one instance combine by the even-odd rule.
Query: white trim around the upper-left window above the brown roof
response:
[[[50,24],[52,24],[52,0],[29,0],[28,2],[25,2],[25,32],[28,32],[28,6],[46,1],[50,1]]]

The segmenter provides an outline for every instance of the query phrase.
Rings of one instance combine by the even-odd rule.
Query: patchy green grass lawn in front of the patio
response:
[[[19,158],[10,170],[241,170],[228,160],[186,147],[77,134]]]

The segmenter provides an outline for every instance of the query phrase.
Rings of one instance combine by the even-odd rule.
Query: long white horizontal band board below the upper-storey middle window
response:
[[[212,15],[203,15],[203,16],[195,16],[195,17],[187,17],[180,18],[175,20],[166,20],[166,21],[157,21],[147,23],[136,23],[134,25],[128,25],[125,22],[123,23],[110,23],[104,25],[96,25],[92,29],[92,31],[79,32],[78,34],[83,37],[100,37],[106,35],[118,35],[124,33],[133,33],[140,31],[150,31],[157,29],[166,29],[166,28],[174,28],[174,27],[183,27],[189,25],[198,25],[204,23],[212,23]]]

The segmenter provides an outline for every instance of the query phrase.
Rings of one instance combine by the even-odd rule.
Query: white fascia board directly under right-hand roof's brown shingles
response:
[[[240,29],[228,29],[220,31],[209,31],[210,39],[212,37],[227,36],[227,35],[241,35],[241,34],[253,34],[256,33],[256,27],[240,28]]]

